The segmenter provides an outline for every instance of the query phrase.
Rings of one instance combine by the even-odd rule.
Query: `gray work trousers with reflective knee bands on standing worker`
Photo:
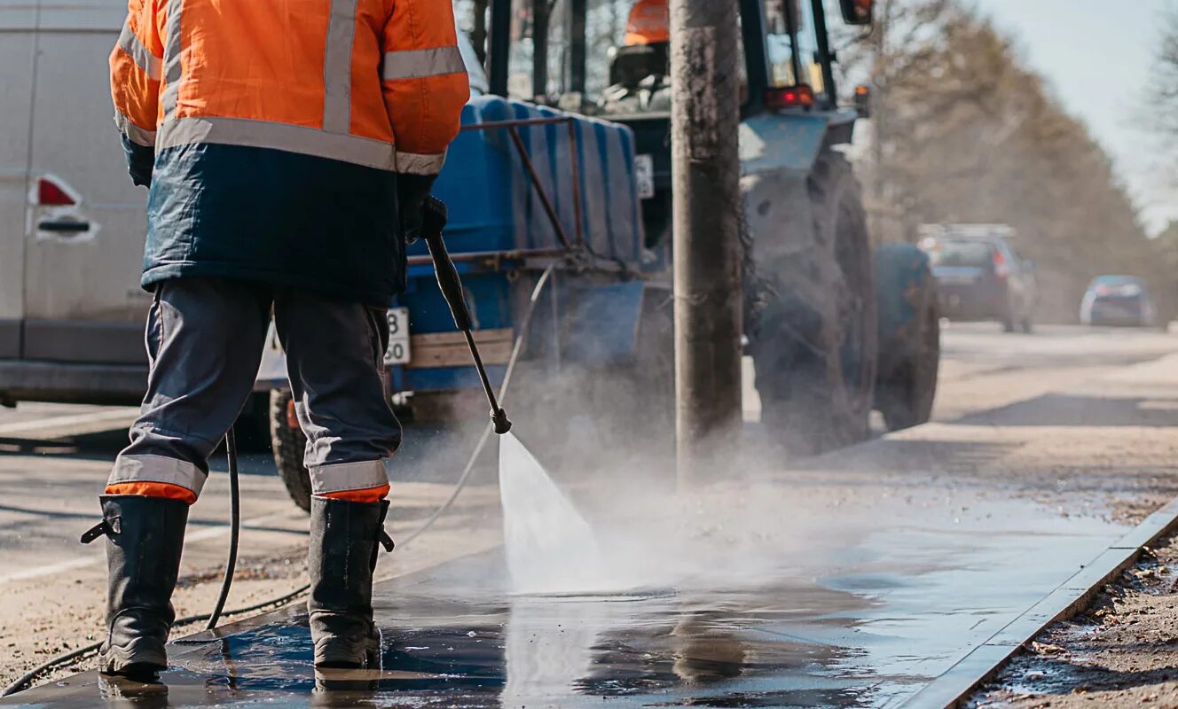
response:
[[[180,278],[157,286],[147,396],[111,485],[165,483],[191,491],[191,499],[200,493],[209,456],[253,390],[271,312],[307,438],[312,492],[388,484],[383,462],[401,445],[401,424],[384,386],[385,309],[259,283]],[[155,486],[140,488],[151,495]]]

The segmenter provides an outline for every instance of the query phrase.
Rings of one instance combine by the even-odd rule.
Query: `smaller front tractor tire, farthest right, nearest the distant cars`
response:
[[[937,281],[926,257],[916,252],[919,260],[906,264],[907,256],[899,245],[876,253],[881,312],[875,409],[889,431],[928,422],[941,359]]]

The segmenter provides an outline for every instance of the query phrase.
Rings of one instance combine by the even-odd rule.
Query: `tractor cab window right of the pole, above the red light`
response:
[[[822,67],[815,61],[814,8],[809,0],[770,0],[765,6],[770,86],[809,84],[822,92]]]

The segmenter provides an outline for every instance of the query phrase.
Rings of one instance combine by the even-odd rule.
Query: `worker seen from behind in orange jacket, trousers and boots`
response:
[[[111,91],[148,187],[147,393],[102,522],[101,671],[166,668],[188,505],[250,396],[271,313],[311,472],[315,663],[379,661],[372,570],[401,444],[386,309],[469,84],[450,2],[128,0]]]

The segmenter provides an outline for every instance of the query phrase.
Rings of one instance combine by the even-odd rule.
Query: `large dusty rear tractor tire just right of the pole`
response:
[[[749,347],[762,425],[790,455],[867,438],[878,351],[859,183],[842,154],[825,150],[805,184],[809,218],[781,224],[786,234],[760,237],[788,238],[794,247],[756,259],[756,271],[772,276],[762,287],[768,296],[757,296]]]

